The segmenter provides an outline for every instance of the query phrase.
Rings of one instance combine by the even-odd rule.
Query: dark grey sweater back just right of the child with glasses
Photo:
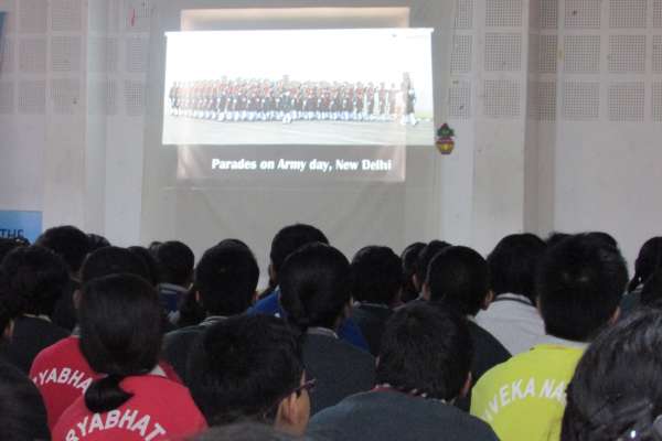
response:
[[[307,334],[303,364],[308,378],[317,379],[310,394],[310,413],[338,404],[375,383],[375,359],[369,353],[333,336]]]

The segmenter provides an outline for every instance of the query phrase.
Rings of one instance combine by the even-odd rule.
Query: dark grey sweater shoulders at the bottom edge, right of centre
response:
[[[345,398],[316,415],[308,433],[329,441],[496,441],[483,421],[440,401],[397,391]]]

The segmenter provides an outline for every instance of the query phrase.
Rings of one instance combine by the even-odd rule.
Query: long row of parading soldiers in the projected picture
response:
[[[415,126],[416,92],[405,74],[385,83],[206,79],[175,82],[170,115],[220,122],[363,121]]]

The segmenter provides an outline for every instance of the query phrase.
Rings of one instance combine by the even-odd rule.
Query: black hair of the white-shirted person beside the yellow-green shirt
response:
[[[530,233],[501,239],[487,259],[494,294],[525,295],[535,303],[535,271],[546,247],[540,237]]]

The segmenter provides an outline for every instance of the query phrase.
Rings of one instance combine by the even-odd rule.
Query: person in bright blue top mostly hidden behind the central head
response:
[[[269,252],[269,286],[274,287],[274,290],[257,302],[252,312],[282,316],[284,311],[280,308],[280,288],[278,286],[280,280],[280,267],[290,254],[307,244],[314,243],[328,245],[329,239],[327,239],[327,236],[318,228],[306,224],[289,225],[280,229],[276,236],[274,236],[271,250]],[[365,337],[361,334],[361,330],[351,318],[346,318],[346,320],[341,323],[338,335],[341,340],[369,351]]]

